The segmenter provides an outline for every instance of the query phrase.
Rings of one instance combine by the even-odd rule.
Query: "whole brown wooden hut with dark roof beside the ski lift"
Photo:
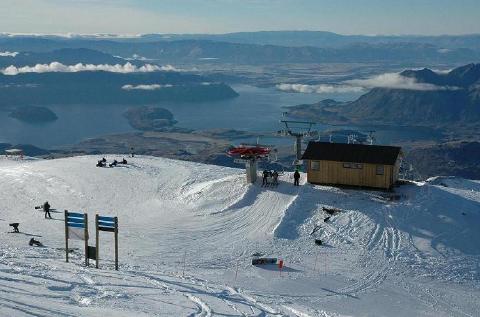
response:
[[[312,184],[389,189],[398,181],[400,147],[310,142],[302,159]]]

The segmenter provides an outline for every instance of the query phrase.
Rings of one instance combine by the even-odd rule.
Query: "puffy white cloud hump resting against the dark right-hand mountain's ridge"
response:
[[[347,80],[344,83],[352,86],[359,86],[365,89],[370,88],[391,88],[407,90],[445,90],[452,87],[436,86],[428,83],[419,83],[415,78],[405,77],[398,73],[385,73],[367,79]]]

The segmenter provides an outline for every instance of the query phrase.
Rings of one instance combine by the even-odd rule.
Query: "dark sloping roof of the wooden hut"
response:
[[[394,165],[400,153],[397,146],[309,142],[302,159]]]

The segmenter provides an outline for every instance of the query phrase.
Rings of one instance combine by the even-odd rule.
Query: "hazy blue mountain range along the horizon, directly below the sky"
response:
[[[337,43],[337,44],[335,44]],[[343,36],[328,32],[145,35],[131,39],[0,37],[0,50],[91,49],[161,63],[465,63],[480,60],[480,35]]]

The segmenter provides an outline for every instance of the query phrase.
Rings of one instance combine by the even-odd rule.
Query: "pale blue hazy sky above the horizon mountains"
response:
[[[480,33],[480,0],[1,0],[0,32]]]

